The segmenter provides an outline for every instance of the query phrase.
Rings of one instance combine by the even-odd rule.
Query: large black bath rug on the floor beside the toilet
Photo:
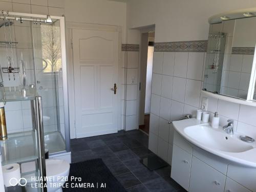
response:
[[[78,179],[73,178],[81,178]],[[73,180],[72,180],[73,178]],[[84,184],[85,183],[85,184]],[[113,176],[109,168],[102,159],[92,159],[88,161],[71,163],[69,181],[63,187],[64,192],[69,191],[106,191],[106,192],[124,192],[126,191],[119,181]],[[78,186],[83,187],[78,187]],[[73,188],[72,188],[73,186]],[[74,186],[77,186],[74,188]],[[86,186],[86,187],[85,187]],[[94,186],[94,187],[92,187]],[[105,187],[102,187],[105,186]]]

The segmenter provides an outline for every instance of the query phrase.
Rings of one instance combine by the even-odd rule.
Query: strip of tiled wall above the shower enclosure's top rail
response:
[[[20,13],[64,14],[64,0],[5,0],[0,1],[1,10]]]

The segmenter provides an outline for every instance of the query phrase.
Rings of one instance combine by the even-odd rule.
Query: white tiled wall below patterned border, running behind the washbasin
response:
[[[168,124],[184,114],[196,116],[201,107],[205,52],[155,52],[148,147],[172,164],[173,127]],[[208,97],[210,118],[218,111],[220,125],[234,119],[238,132],[256,137],[256,108]]]

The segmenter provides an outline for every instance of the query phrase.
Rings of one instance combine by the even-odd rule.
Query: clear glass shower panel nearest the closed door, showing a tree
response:
[[[36,89],[42,97],[45,143],[49,153],[66,150],[59,20],[33,24]]]

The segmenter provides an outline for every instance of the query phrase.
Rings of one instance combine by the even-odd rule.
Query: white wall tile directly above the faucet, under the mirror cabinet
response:
[[[239,106],[240,105],[238,103],[232,103],[232,102],[223,101],[219,99],[218,113],[225,117],[237,120],[238,113],[239,113]]]

